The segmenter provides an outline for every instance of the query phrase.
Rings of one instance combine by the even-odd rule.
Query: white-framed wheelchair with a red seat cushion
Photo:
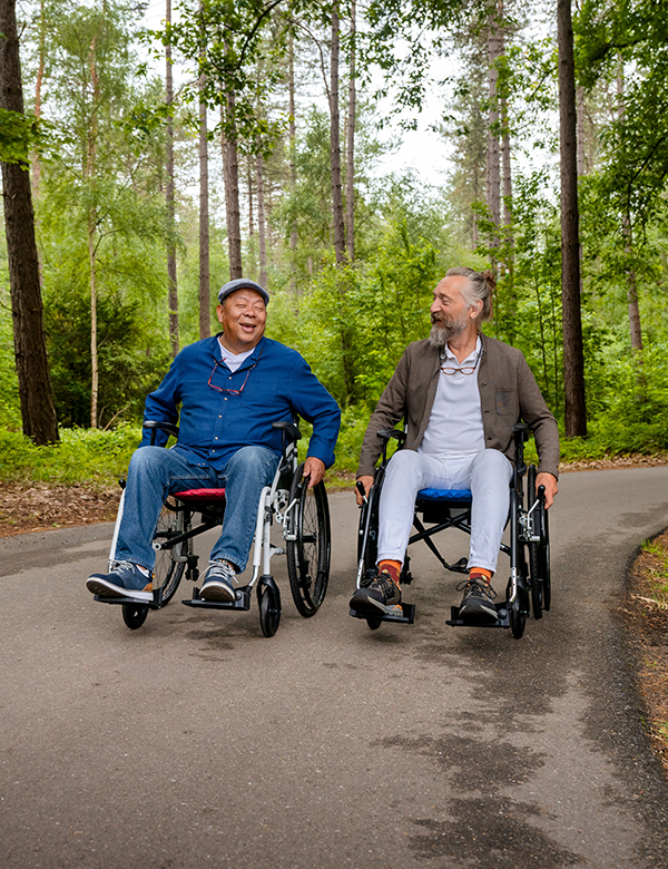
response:
[[[257,506],[253,544],[253,574],[247,585],[236,588],[230,602],[204,601],[199,589],[185,599],[186,606],[216,609],[250,608],[253,588],[256,588],[259,624],[265,636],[274,636],[281,622],[281,592],[271,574],[271,559],[286,555],[291,593],[299,615],[310,618],[325,599],[330,577],[331,526],[327,494],[323,482],[308,489],[308,478],[302,477],[304,465],[297,459],[297,441],[302,433],[296,422],[278,421],[273,427],[282,432],[283,450],[271,486],[262,490]],[[144,428],[151,429],[151,445],[157,429],[178,437],[178,428],[150,420]],[[120,480],[125,489],[125,480]],[[109,551],[109,570],[116,560],[118,528],[122,516],[125,491],[121,496],[114,538]],[[138,602],[129,597],[105,598],[106,604],[120,604],[125,624],[132,631],[141,627],[149,609],[160,609],[175,596],[185,575],[196,583],[199,578],[198,556],[193,551],[193,539],[223,525],[225,489],[189,489],[170,495],[160,511],[153,548],[154,599]],[[271,539],[274,520],[281,527],[285,546],[275,546]]]

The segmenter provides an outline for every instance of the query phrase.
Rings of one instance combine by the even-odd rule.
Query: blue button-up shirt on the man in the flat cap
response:
[[[233,373],[223,362],[216,335],[181,350],[146,399],[144,419],[178,421],[175,449],[193,465],[219,470],[242,447],[268,447],[281,455],[282,434],[272,422],[289,422],[293,412],[313,423],[308,456],[325,467],[333,465],[341,411],[304,358],[263,336]],[[145,429],[141,446],[149,441]],[[155,442],[166,441],[167,434],[158,431]]]

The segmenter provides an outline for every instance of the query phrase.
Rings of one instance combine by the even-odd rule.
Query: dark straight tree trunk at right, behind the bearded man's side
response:
[[[576,67],[571,0],[557,0],[559,49],[559,130],[561,156],[561,304],[563,320],[563,399],[567,438],[587,436],[584,354],[580,311],[580,238]]]

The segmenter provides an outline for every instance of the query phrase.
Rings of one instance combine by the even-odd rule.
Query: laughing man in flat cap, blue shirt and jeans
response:
[[[246,567],[257,504],[271,485],[282,450],[278,420],[293,412],[313,423],[304,476],[316,486],[334,462],[341,412],[295,350],[265,338],[269,295],[237,279],[218,293],[223,331],[196,341],[176,357],[165,380],[146,399],[145,421],[179,423],[178,442],[164,449],[144,441],[132,456],[110,574],[94,574],[87,588],[100,597],[153,599],[151,540],[163,502],[174,491],[225,488],[223,529],[200,596],[233,601],[234,579]]]

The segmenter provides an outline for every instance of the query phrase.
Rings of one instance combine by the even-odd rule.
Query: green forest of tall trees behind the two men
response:
[[[238,276],[268,289],[267,334],[299,350],[342,407],[337,467],[353,469],[453,265],[495,273],[487,331],[527,357],[563,456],[668,449],[668,0],[2,7],[8,36],[16,7],[22,92],[22,107],[4,99],[0,53],[3,473],[31,440],[136,442],[146,393],[179,348],[215,332],[217,291]],[[561,13],[572,17],[568,207]],[[428,104],[449,155],[441,183],[383,172]],[[41,352],[21,344],[39,330],[17,313],[10,275],[10,185],[22,182],[47,434],[17,373]]]

